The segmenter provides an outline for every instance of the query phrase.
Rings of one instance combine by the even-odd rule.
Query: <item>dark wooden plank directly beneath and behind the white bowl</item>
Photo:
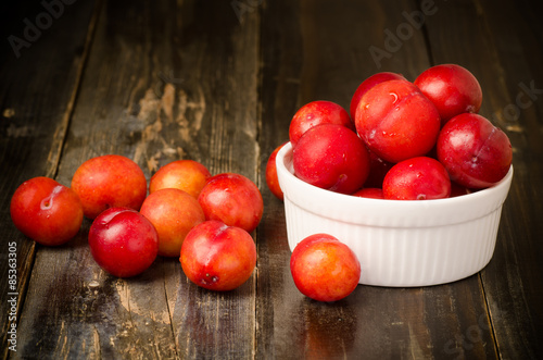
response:
[[[401,5],[337,2],[333,7],[267,3],[263,11],[262,122],[263,134],[269,136],[263,137],[262,148],[269,154],[288,138],[290,119],[305,102],[326,99],[348,108],[365,77],[393,71],[414,79],[430,66],[422,26],[411,25],[395,44],[389,35],[399,37],[397,32],[408,29],[407,16],[422,11],[427,17],[435,14],[433,8],[417,8],[408,1]],[[285,35],[279,29],[286,29]],[[371,57],[370,47],[382,57]],[[261,174],[264,165],[263,159]],[[277,219],[277,214],[283,216],[282,203],[269,193],[266,196],[268,218],[260,227],[258,244],[260,357],[497,357],[477,275],[433,287],[358,286],[337,303],[304,298],[288,268],[285,222]]]

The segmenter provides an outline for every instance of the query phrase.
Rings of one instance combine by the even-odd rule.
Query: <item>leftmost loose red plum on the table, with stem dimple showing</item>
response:
[[[72,239],[81,227],[83,207],[68,187],[49,177],[21,184],[10,202],[13,224],[36,243],[58,246]]]

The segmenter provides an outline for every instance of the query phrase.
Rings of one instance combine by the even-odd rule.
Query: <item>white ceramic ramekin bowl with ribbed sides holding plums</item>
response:
[[[359,283],[429,286],[483,269],[492,258],[513,166],[498,184],[439,200],[382,200],[332,193],[293,175],[292,147],[276,158],[290,249],[327,233],[346,244],[362,266]]]

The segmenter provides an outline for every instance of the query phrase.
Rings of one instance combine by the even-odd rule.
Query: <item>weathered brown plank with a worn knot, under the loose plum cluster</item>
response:
[[[241,27],[227,2],[105,2],[58,177],[70,182],[83,161],[119,153],[148,177],[190,158],[256,182],[257,41],[258,14]],[[38,252],[20,356],[252,356],[253,278],[205,291],[178,259],[162,258],[140,276],[114,278],[88,251],[89,225],[72,244]]]

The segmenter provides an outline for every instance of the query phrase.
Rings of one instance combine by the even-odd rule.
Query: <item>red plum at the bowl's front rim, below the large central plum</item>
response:
[[[382,193],[392,200],[444,199],[451,196],[451,179],[438,160],[417,157],[392,166],[384,176]]]

